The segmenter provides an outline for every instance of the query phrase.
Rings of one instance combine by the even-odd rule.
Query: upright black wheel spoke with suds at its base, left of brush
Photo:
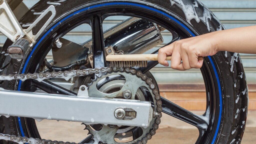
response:
[[[93,68],[106,67],[101,15],[92,17]]]

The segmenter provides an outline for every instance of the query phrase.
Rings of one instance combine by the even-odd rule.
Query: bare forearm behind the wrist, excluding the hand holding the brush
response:
[[[256,26],[214,32],[212,40],[217,51],[256,54]]]

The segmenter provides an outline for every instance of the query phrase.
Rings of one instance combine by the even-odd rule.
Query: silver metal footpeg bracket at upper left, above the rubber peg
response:
[[[38,31],[36,35],[33,35],[32,29],[40,22],[40,20],[49,12],[51,12],[50,18],[43,25],[43,27]],[[35,22],[29,26],[28,29],[23,29],[14,13],[10,9],[6,0],[0,1],[0,32],[3,33],[7,38],[15,42],[17,39],[25,38],[29,40],[30,44],[34,44],[36,39],[42,34],[46,26],[54,19],[56,15],[56,10],[53,5],[49,6],[44,13],[42,13]]]

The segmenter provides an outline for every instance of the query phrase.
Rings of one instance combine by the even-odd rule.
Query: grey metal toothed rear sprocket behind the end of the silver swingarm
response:
[[[112,91],[112,93],[106,93],[106,90],[101,91],[99,89],[98,83],[102,83],[103,80],[111,79],[117,75],[118,75],[118,78],[116,80],[120,80],[120,76],[122,76],[124,78],[123,80],[125,80],[120,90],[117,90],[115,92]],[[114,79],[110,81],[113,81],[113,80]],[[135,69],[113,68],[112,71],[106,73],[101,77],[96,76],[96,78],[92,80],[90,84],[88,84],[88,88],[89,88],[88,93],[90,97],[95,96],[95,97],[101,97],[101,98],[122,98],[124,91],[129,90],[131,93],[131,98],[129,99],[138,99],[142,101],[151,100],[152,102],[154,102],[154,105],[153,104],[152,105],[155,106],[153,107],[153,119],[150,122],[150,125],[148,127],[147,125],[142,125],[141,127],[126,127],[126,126],[116,126],[116,125],[113,126],[113,125],[101,124],[102,128],[100,130],[94,130],[92,128],[93,126],[85,124],[86,129],[89,131],[90,134],[93,135],[92,139],[94,141],[108,143],[108,144],[110,143],[117,144],[118,142],[116,142],[114,138],[120,139],[120,137],[122,137],[122,133],[126,133],[132,130],[137,130],[137,128],[141,128],[142,135],[137,137],[136,139],[133,139],[132,141],[125,142],[125,144],[133,144],[133,143],[145,144],[149,139],[152,138],[153,135],[155,135],[156,130],[158,129],[158,125],[161,122],[160,118],[162,117],[162,114],[161,114],[162,102],[160,100],[157,84],[152,82],[152,79],[147,77],[147,75],[142,74],[141,71],[136,71]],[[115,88],[115,87],[112,86],[112,88]],[[137,96],[139,95],[138,91],[140,91],[141,89],[144,89],[144,90],[146,89],[148,91],[147,95],[143,95],[143,97],[145,96],[144,98],[142,98],[141,96]]]

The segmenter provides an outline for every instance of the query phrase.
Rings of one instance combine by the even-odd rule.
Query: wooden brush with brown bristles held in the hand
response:
[[[106,61],[110,61],[110,67],[147,67],[147,61],[157,61],[157,54],[142,55],[107,55]],[[172,56],[167,56],[166,60],[171,60]],[[203,57],[198,57],[203,60]]]

